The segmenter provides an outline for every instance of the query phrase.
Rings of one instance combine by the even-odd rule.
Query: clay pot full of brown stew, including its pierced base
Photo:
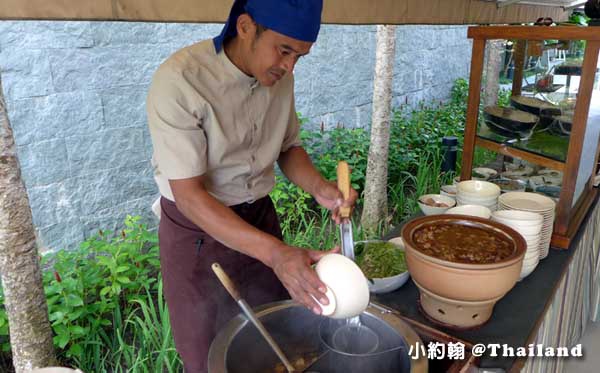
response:
[[[489,319],[495,303],[519,279],[527,249],[512,228],[465,215],[413,219],[404,225],[402,239],[423,312],[461,328]]]

